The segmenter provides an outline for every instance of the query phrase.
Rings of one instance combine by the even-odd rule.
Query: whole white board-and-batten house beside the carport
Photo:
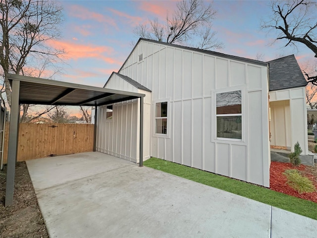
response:
[[[140,39],[105,88],[146,95],[143,160],[162,158],[268,187],[268,94],[271,117],[280,116],[279,103],[289,110],[286,146],[299,140],[308,152],[303,87],[269,92],[271,62]],[[98,108],[97,151],[139,162],[138,100]],[[300,129],[289,133],[294,127]],[[272,136],[278,144],[278,133]]]

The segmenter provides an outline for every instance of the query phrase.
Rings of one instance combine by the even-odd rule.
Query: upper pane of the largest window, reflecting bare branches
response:
[[[241,90],[217,93],[217,115],[241,113]]]

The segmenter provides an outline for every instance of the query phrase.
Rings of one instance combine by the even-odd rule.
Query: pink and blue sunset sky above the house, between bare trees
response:
[[[133,29],[138,24],[158,18],[164,21],[176,5],[175,0],[140,1],[67,1],[62,38],[53,41],[55,47],[64,48],[65,74],[57,80],[103,87],[112,71],[117,71],[136,43]],[[285,42],[271,45],[272,35],[261,31],[261,19],[270,15],[267,1],[214,1],[217,15],[212,28],[225,47],[221,53],[263,60],[295,54],[300,65],[314,59],[306,47],[284,48]],[[217,51],[217,50],[215,50]]]

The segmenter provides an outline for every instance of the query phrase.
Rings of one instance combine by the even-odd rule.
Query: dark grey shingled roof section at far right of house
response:
[[[305,87],[307,81],[294,55],[268,61],[269,91]]]

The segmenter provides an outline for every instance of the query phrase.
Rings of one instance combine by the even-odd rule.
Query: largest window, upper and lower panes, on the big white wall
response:
[[[242,139],[241,90],[216,94],[217,137]]]

